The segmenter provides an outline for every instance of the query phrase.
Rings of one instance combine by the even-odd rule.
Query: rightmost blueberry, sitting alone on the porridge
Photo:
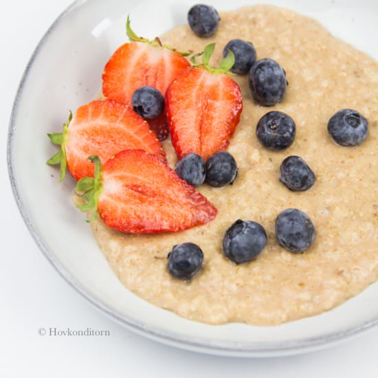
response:
[[[368,137],[368,120],[352,109],[337,111],[328,122],[331,138],[340,146],[358,146]]]

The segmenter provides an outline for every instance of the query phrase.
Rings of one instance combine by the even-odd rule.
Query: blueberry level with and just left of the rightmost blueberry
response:
[[[257,123],[256,137],[269,150],[283,150],[296,137],[296,122],[281,111],[269,111]]]

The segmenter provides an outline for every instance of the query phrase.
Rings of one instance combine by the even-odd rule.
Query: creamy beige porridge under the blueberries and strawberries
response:
[[[121,234],[102,221],[92,227],[123,285],[148,302],[210,324],[279,324],[331,309],[378,278],[378,64],[318,22],[265,5],[221,14],[212,38],[198,38],[184,25],[163,40],[193,51],[216,42],[212,63],[217,65],[232,38],[252,41],[258,58],[277,60],[287,71],[289,88],[281,104],[260,107],[247,77],[233,76],[244,110],[228,151],[239,175],[226,188],[199,188],[219,210],[216,219],[175,234]],[[368,118],[370,135],[361,146],[331,142],[326,124],[344,108]],[[296,140],[285,151],[268,151],[256,140],[256,123],[274,109],[296,121]],[[177,158],[169,140],[164,149],[173,167]],[[291,192],[278,181],[288,155],[300,155],[315,172],[311,190]],[[291,254],[276,242],[274,221],[285,208],[307,212],[315,224],[315,243],[304,254]],[[227,260],[221,246],[237,219],[257,221],[268,235],[263,253],[243,265]],[[188,241],[203,249],[205,261],[191,282],[183,282],[168,274],[166,256],[173,245]]]

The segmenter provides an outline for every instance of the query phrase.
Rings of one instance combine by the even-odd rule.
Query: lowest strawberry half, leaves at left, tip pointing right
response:
[[[122,232],[147,234],[175,232],[210,222],[214,206],[186,184],[162,159],[141,150],[121,151],[101,167],[94,179],[78,181],[78,192],[86,203],[85,212],[94,211],[109,227]],[[92,216],[92,218],[93,218]]]

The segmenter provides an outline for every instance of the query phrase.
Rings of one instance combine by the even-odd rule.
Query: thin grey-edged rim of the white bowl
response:
[[[227,342],[227,341],[214,341],[214,340],[205,340],[197,337],[187,337],[184,335],[179,335],[175,332],[164,331],[155,326],[150,326],[143,322],[138,321],[135,318],[126,316],[119,311],[113,309],[112,307],[104,304],[95,293],[92,293],[84,285],[82,285],[76,278],[69,272],[69,270],[63,265],[63,263],[58,260],[54,255],[52,250],[49,250],[47,246],[41,241],[38,232],[34,230],[32,221],[30,221],[30,216],[25,208],[23,199],[19,192],[19,187],[14,175],[14,146],[13,146],[13,137],[14,130],[17,124],[17,116],[19,111],[19,102],[23,96],[23,89],[27,78],[30,76],[30,69],[34,65],[34,60],[41,53],[43,46],[47,39],[54,33],[56,27],[65,19],[69,13],[79,8],[85,3],[89,3],[91,0],[74,0],[60,15],[56,20],[50,25],[47,29],[41,40],[36,45],[34,52],[30,60],[27,63],[25,70],[23,71],[23,76],[19,82],[19,87],[16,91],[16,96],[14,98],[12,112],[10,115],[10,122],[8,126],[8,141],[7,141],[7,165],[8,165],[8,175],[10,179],[10,184],[12,187],[12,192],[14,199],[16,201],[19,212],[29,230],[30,234],[34,238],[36,245],[38,245],[41,252],[45,255],[49,263],[58,271],[60,276],[78,293],[80,293],[86,300],[89,301],[96,309],[100,312],[107,315],[109,318],[118,322],[126,329],[144,335],[150,339],[153,339],[158,342],[163,342],[164,344],[169,344],[177,346],[179,348],[184,348],[192,351],[199,351],[203,353],[210,353],[215,355],[227,355],[227,356],[238,356],[238,357],[271,357],[271,356],[282,356],[282,355],[293,355],[297,353],[304,353],[307,351],[313,351],[326,346],[331,346],[337,344],[344,340],[347,340],[351,337],[361,334],[364,331],[368,331],[373,327],[378,325],[378,317],[373,318],[372,320],[362,322],[357,326],[352,326],[344,331],[337,331],[334,333],[326,333],[318,337],[309,337],[303,340],[293,340],[290,342],[265,342],[265,343],[256,343],[256,342]]]

